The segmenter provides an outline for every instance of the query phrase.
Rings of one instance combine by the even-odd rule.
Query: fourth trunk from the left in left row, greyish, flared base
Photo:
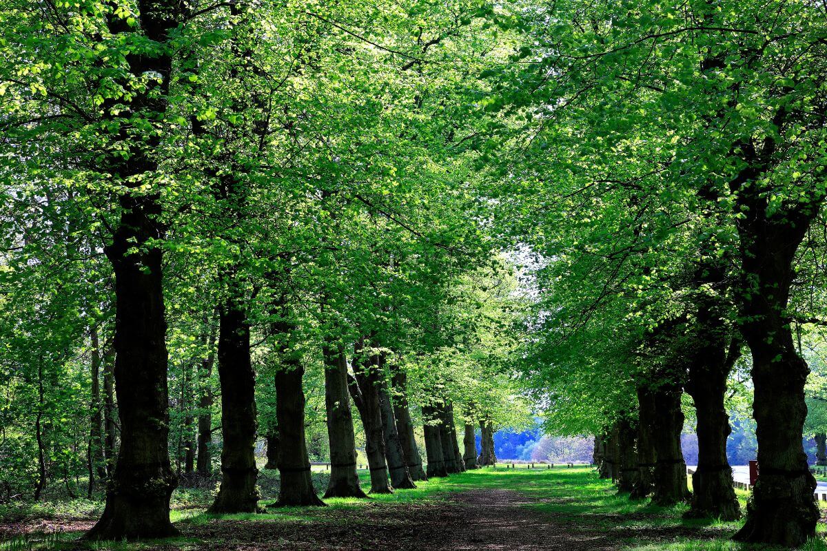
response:
[[[327,438],[330,440],[330,481],[324,496],[367,497],[356,473],[356,435],[347,390],[347,358],[342,345],[330,340],[324,344],[322,354]]]

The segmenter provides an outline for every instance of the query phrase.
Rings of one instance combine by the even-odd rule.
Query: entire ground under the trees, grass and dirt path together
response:
[[[743,500],[746,494],[739,492],[739,497]],[[662,508],[647,501],[629,501],[585,467],[486,468],[367,501],[336,499],[323,508],[270,510],[262,515],[206,515],[203,507],[207,505],[192,496],[189,500],[179,496],[172,517],[180,536],[131,544],[79,543],[79,534],[94,521],[88,511],[74,517],[65,511],[40,515],[43,518],[30,511],[14,521],[0,516],[0,551],[762,549],[729,541],[738,523],[683,520],[686,506]],[[805,549],[822,551],[827,545],[816,539]]]

